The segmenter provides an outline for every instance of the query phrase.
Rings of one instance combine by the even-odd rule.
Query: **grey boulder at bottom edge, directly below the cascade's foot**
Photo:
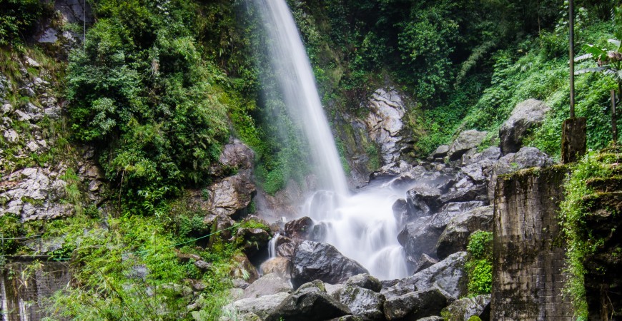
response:
[[[363,287],[347,285],[337,290],[332,297],[346,305],[352,315],[359,317],[361,321],[384,319],[382,305],[385,296]]]

